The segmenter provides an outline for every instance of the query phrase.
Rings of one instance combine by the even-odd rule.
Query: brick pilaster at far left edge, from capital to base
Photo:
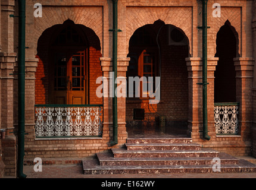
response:
[[[16,53],[0,52],[0,86],[1,86],[1,126],[6,129],[5,139],[1,139],[2,161],[5,165],[5,175],[16,175],[16,137],[10,132],[14,131],[14,64]],[[1,170],[1,169],[0,169]]]

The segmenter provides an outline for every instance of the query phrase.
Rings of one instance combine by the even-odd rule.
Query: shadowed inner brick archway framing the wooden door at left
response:
[[[98,36],[92,29],[85,27],[81,24],[74,24],[73,21],[67,20],[63,24],[56,24],[45,31],[39,37],[36,57],[39,59],[38,67],[36,69],[36,81],[35,81],[35,104],[49,104],[51,99],[50,94],[50,75],[54,74],[51,67],[51,52],[50,47],[52,41],[60,33],[61,30],[65,29],[67,23],[70,23],[70,27],[80,31],[80,36],[85,40],[86,55],[88,55],[88,104],[102,104],[102,99],[96,97],[96,78],[101,76],[101,65],[99,58],[101,55],[101,46]],[[68,26],[69,26],[68,25]]]

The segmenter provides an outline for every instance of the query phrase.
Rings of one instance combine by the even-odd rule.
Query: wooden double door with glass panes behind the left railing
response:
[[[88,103],[86,50],[55,54],[55,105],[85,105]]]

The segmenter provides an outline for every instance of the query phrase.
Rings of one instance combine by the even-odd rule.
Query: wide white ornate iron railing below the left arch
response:
[[[102,105],[35,105],[35,135],[42,137],[99,137]]]

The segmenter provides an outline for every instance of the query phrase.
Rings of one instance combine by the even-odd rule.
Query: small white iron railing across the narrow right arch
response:
[[[216,134],[238,134],[238,108],[239,103],[214,103]]]

